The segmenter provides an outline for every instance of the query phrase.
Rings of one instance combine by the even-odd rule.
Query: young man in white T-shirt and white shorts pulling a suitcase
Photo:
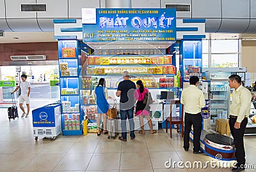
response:
[[[20,109],[23,111],[21,117],[24,117],[26,115],[26,117],[28,117],[29,115],[29,111],[30,111],[30,101],[29,101],[29,95],[30,95],[30,83],[26,81],[27,79],[27,75],[21,75],[21,80],[22,82],[19,83],[19,85],[16,87],[16,89],[11,93],[13,94],[14,92],[16,92],[19,88],[20,88],[20,97],[19,97],[19,105],[20,105]],[[23,108],[23,103],[26,102],[27,105],[27,109],[28,109],[28,113],[26,114],[24,108]]]

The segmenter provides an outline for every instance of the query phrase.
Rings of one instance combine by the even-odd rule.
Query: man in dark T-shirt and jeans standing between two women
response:
[[[131,140],[135,138],[134,134],[134,120],[133,120],[133,111],[134,111],[134,91],[136,85],[134,82],[129,80],[129,72],[123,72],[124,81],[118,84],[116,91],[116,96],[120,96],[120,116],[121,116],[121,128],[122,136],[118,137],[121,141],[127,141],[127,129],[126,129],[126,120],[128,117],[129,126],[130,126],[130,136]]]

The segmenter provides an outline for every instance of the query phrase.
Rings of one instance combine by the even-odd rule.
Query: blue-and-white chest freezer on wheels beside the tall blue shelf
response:
[[[60,102],[33,110],[32,117],[35,140],[38,140],[38,136],[55,140],[61,133]]]

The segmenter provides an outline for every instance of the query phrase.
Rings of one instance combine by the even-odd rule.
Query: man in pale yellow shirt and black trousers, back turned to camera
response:
[[[189,79],[189,87],[184,89],[181,94],[180,103],[184,104],[185,111],[185,130],[184,130],[184,150],[189,148],[189,133],[193,125],[193,153],[202,154],[200,150],[200,136],[202,131],[202,115],[201,108],[205,106],[204,93],[197,88],[199,78],[191,76]]]

